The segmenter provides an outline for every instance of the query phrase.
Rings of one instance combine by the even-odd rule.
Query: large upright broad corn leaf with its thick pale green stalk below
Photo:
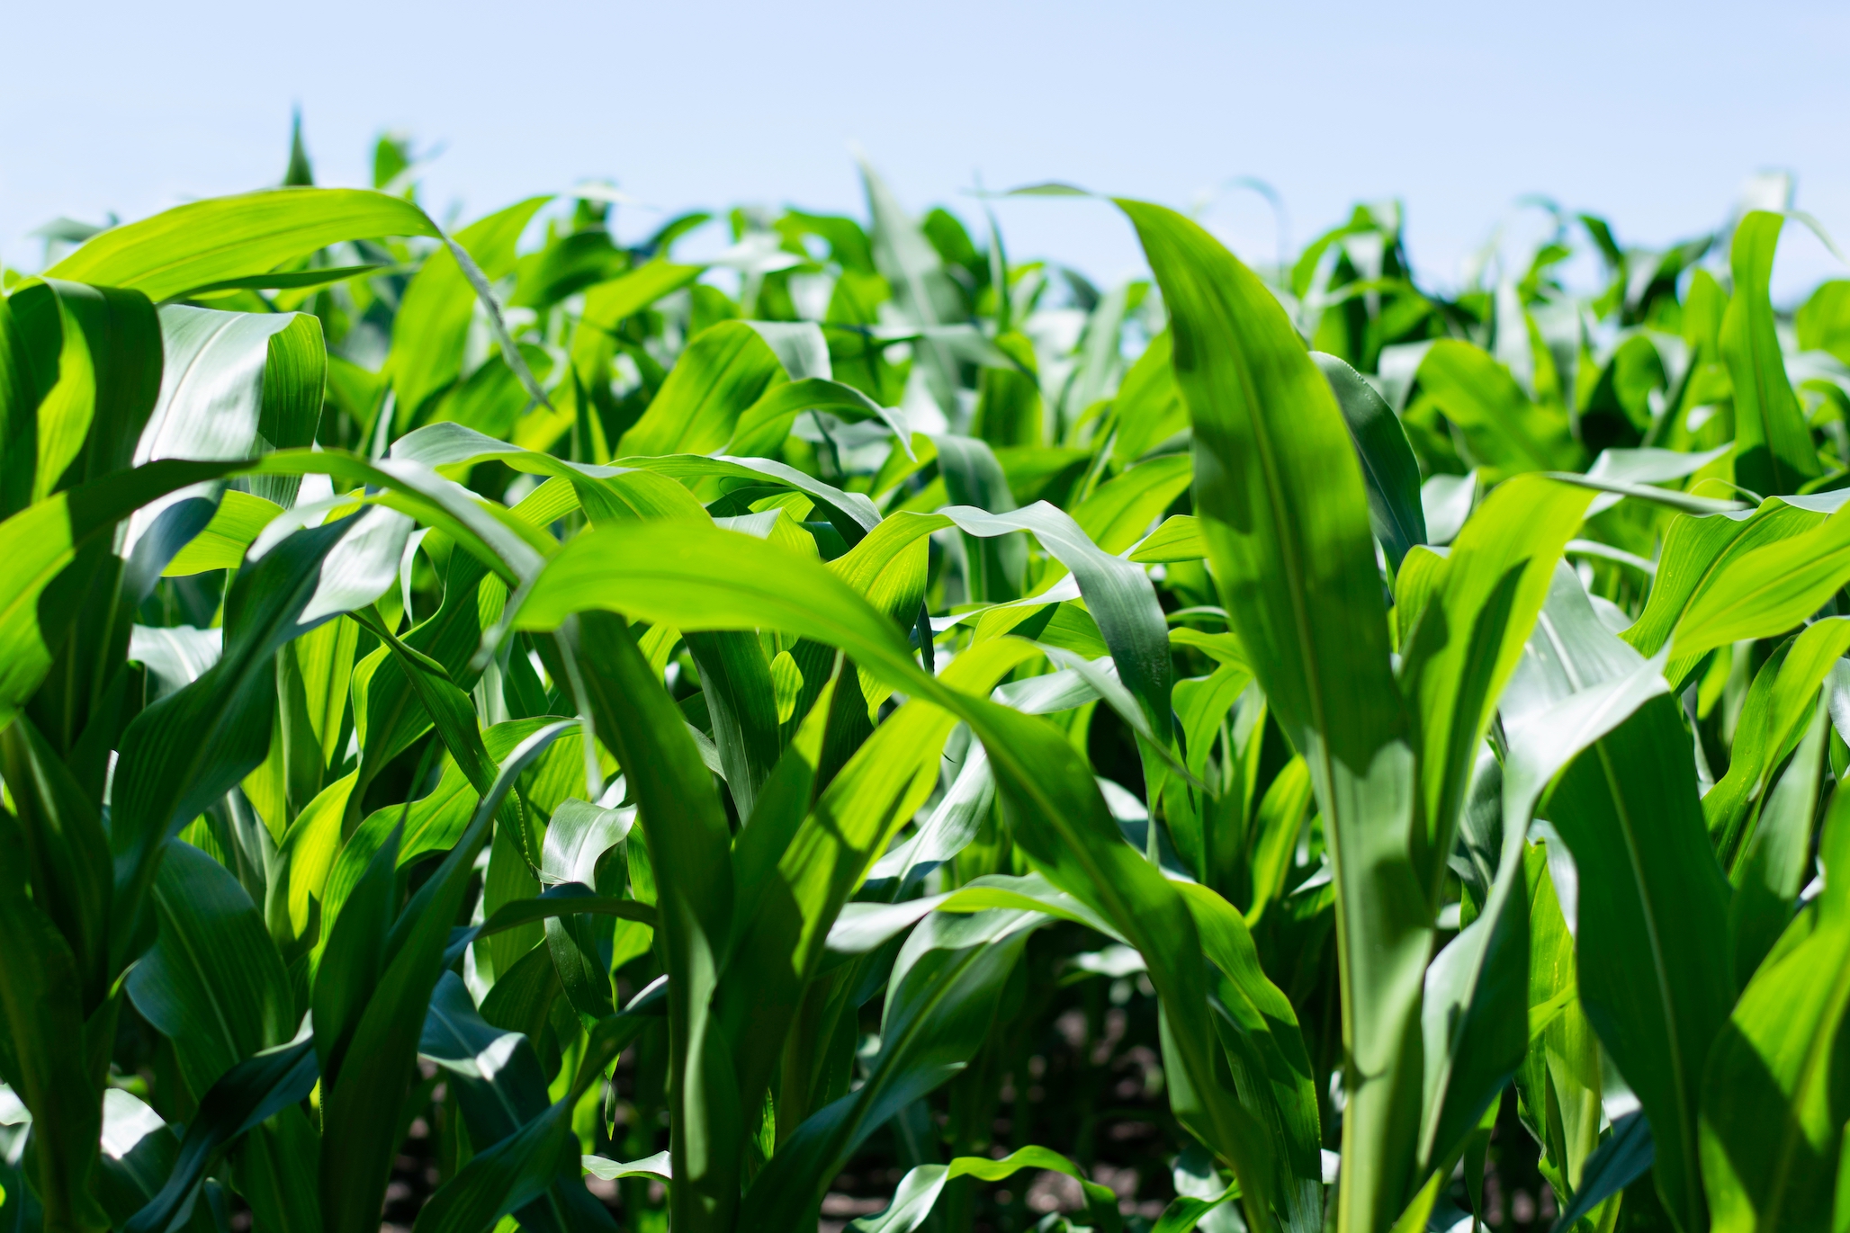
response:
[[[1119,205],[1171,312],[1175,377],[1195,425],[1195,514],[1223,606],[1310,765],[1336,847],[1350,1057],[1338,1227],[1382,1227],[1415,1181],[1432,917],[1408,860],[1413,758],[1362,466],[1330,383],[1264,283],[1178,214]],[[1238,1172],[1251,1203],[1254,1183]]]

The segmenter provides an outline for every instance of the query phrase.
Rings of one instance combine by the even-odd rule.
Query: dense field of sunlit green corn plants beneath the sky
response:
[[[6,274],[7,1231],[1850,1227],[1783,213],[1101,290],[407,166]]]

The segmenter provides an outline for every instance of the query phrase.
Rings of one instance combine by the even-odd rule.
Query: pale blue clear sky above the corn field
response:
[[[1743,181],[1850,244],[1850,6],[390,0],[15,6],[0,74],[0,257],[30,231],[276,183],[300,105],[316,179],[363,185],[381,129],[435,152],[424,203],[472,218],[614,179],[640,237],[681,209],[862,213],[857,144],[912,209],[980,220],[975,185],[1060,179],[1177,207],[1271,261],[1269,183],[1302,244],[1400,198],[1421,275],[1454,287],[1524,194],[1661,246],[1722,222]],[[1075,200],[995,203],[1014,257],[1140,268],[1128,226]],[[1500,231],[1498,231],[1500,229]],[[683,255],[718,248],[720,227]],[[1776,296],[1846,270],[1789,227]]]

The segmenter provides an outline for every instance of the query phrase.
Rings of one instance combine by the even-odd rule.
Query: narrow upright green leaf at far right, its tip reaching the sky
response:
[[[1772,250],[1785,220],[1752,211],[1735,224],[1728,266],[1733,296],[1722,314],[1720,351],[1733,379],[1735,481],[1763,497],[1798,492],[1819,475],[1819,451],[1780,359],[1772,322]]]

